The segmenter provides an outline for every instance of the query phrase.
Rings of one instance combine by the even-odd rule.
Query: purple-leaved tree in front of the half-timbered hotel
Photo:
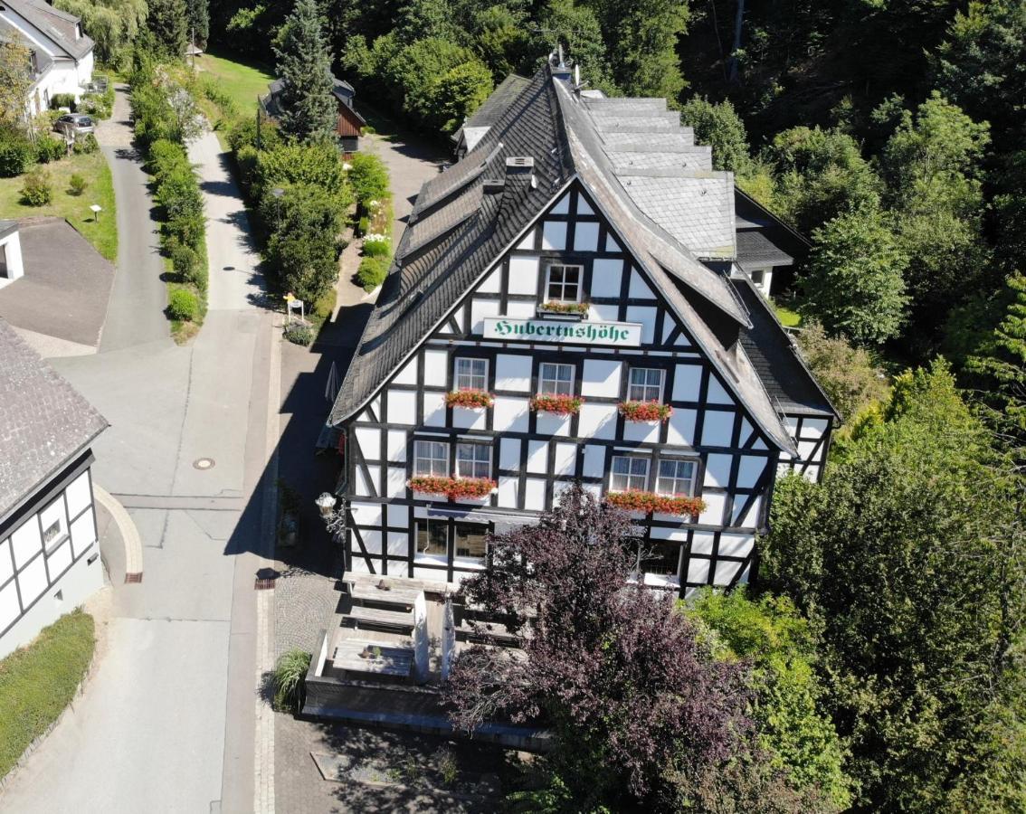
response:
[[[460,656],[451,720],[551,726],[578,805],[665,800],[666,778],[705,775],[750,741],[747,665],[714,659],[672,602],[627,581],[636,553],[628,516],[574,487],[537,526],[497,535],[490,571],[462,587],[526,635],[522,654]]]

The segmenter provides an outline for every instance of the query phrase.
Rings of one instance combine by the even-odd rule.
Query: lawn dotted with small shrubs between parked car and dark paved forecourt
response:
[[[114,185],[111,181],[111,168],[107,166],[103,153],[97,150],[87,156],[69,156],[42,166],[50,173],[53,200],[45,206],[27,206],[21,201],[24,176],[0,178],[0,218],[33,215],[66,217],[95,246],[96,251],[112,262],[116,260],[118,227],[114,212]],[[74,172],[84,177],[88,184],[85,192],[78,197],[68,192],[68,181]],[[95,222],[89,211],[91,204],[104,207]]]

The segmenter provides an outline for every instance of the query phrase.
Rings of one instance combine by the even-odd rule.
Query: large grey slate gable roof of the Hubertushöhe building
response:
[[[631,141],[643,143],[654,128],[679,147],[693,146],[694,135],[680,127],[679,119],[659,115],[666,114],[665,100],[584,96],[554,76],[557,70],[540,70],[478,145],[422,188],[328,424],[337,426],[361,409],[520,233],[578,178],[756,423],[776,444],[792,449],[747,357],[728,353],[699,314],[700,308],[712,308],[718,320],[750,325],[725,276],[698,258],[709,249],[721,259],[734,258],[733,176],[672,167],[618,169],[607,156],[607,151],[621,149],[624,139],[618,136],[629,134]],[[529,172],[507,172],[507,162],[518,157],[534,159]],[[491,179],[499,182],[485,189]]]

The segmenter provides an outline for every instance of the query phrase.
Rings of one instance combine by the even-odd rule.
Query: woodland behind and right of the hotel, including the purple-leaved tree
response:
[[[593,534],[500,541],[498,584],[543,612],[567,575],[522,556],[562,546],[593,588],[526,662],[458,664],[463,725],[556,724],[523,810],[1026,810],[1026,2],[316,3],[333,68],[425,136],[559,42],[592,87],[667,97],[811,241],[775,293],[843,424],[822,483],[778,481],[754,592],[627,618]],[[273,64],[291,6],[210,0],[210,41]],[[471,591],[517,599],[495,585]]]

